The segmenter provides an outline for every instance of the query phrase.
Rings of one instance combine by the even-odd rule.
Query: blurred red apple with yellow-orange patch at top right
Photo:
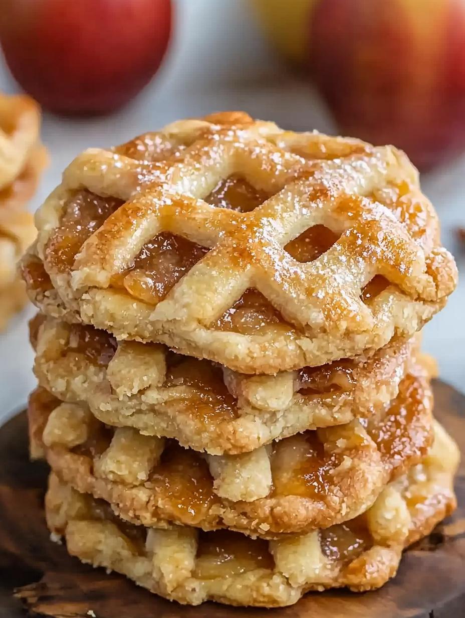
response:
[[[465,149],[465,0],[323,0],[309,46],[341,132],[422,168]]]

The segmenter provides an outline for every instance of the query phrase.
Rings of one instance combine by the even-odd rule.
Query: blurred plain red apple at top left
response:
[[[1,0],[0,43],[17,81],[57,112],[102,113],[157,72],[170,0]]]

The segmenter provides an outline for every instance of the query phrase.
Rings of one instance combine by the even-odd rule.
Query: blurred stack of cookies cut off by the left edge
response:
[[[39,131],[35,101],[0,93],[0,331],[27,300],[17,261],[36,235],[25,208],[46,163]]]

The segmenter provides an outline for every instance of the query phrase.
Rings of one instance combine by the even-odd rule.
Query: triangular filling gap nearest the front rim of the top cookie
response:
[[[293,329],[281,313],[261,292],[249,288],[234,305],[217,320],[216,327],[222,331],[239,332],[242,335],[261,334],[267,328]]]

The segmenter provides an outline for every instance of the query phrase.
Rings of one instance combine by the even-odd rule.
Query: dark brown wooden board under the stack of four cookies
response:
[[[465,397],[437,382],[435,398],[436,415],[465,459]],[[465,617],[465,462],[456,483],[456,514],[404,554],[394,580],[375,592],[314,593],[274,610],[215,603],[184,607],[82,565],[49,540],[43,512],[47,472],[46,465],[28,461],[21,413],[0,430],[0,618]]]

